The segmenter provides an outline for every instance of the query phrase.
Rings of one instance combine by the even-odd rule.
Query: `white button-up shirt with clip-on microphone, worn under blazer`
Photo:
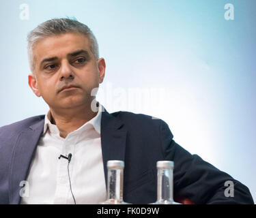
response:
[[[66,138],[59,136],[59,129],[45,116],[44,133],[38,142],[35,157],[27,177],[28,197],[20,204],[98,204],[106,200],[106,185],[100,140],[102,106],[93,119],[70,132]],[[72,154],[68,159],[59,155]]]

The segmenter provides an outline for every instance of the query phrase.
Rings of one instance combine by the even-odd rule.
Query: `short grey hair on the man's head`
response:
[[[96,59],[99,58],[98,42],[94,33],[84,25],[83,23],[77,21],[75,18],[54,18],[51,20],[46,20],[42,24],[38,25],[27,35],[27,54],[29,58],[29,66],[31,72],[34,72],[35,63],[33,56],[33,46],[35,42],[45,39],[53,35],[60,35],[63,33],[81,33],[85,35],[90,42],[90,49]]]

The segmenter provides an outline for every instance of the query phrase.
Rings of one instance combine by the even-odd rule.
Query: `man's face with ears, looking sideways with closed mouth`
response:
[[[29,75],[29,86],[50,108],[91,104],[91,90],[103,81],[106,66],[104,59],[95,59],[87,37],[79,33],[47,37],[35,44],[33,55],[35,71]]]

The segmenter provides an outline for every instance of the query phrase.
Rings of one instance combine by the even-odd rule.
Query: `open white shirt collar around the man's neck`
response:
[[[99,104],[98,106],[98,112],[96,116],[94,116],[92,119],[87,121],[84,125],[91,124],[94,129],[100,134],[100,122],[101,122],[101,116],[102,116],[102,111],[103,111],[103,106]],[[51,123],[51,111],[48,110],[47,114],[44,117],[44,132],[43,134],[46,133],[46,131],[49,129],[50,131],[55,131],[57,129],[57,126],[53,123]],[[83,125],[83,126],[84,126]],[[79,127],[79,129],[83,128],[83,126]]]

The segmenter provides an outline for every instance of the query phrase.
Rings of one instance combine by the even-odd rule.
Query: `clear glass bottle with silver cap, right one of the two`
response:
[[[180,204],[173,200],[173,161],[157,161],[157,200],[152,204]]]

